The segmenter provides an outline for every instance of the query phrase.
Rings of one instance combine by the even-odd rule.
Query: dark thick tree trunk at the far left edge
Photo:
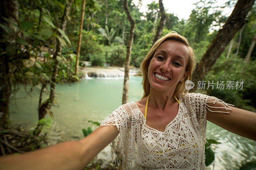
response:
[[[1,18],[0,23],[12,29],[14,32],[0,27],[0,48],[6,51],[9,45],[15,46],[17,27],[12,25],[11,22],[4,20],[3,17],[11,20],[18,25],[19,20],[19,2],[18,0],[3,0],[0,5]],[[1,51],[1,53],[3,52]],[[0,127],[7,126],[9,121],[9,102],[12,92],[12,73],[13,64],[18,56],[13,53],[12,55],[0,54]],[[12,62],[11,62],[12,61]]]

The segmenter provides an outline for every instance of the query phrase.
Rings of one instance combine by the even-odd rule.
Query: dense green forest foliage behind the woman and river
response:
[[[147,4],[148,10],[145,13],[140,12],[141,1],[138,2],[138,5],[132,0],[127,3],[136,23],[130,61],[134,67],[140,66],[152,46],[163,13],[157,1]],[[176,31],[187,37],[199,62],[228,18],[223,15],[223,8],[234,8],[237,1],[227,0],[221,5],[216,5],[216,2],[197,1],[187,20],[178,18],[172,12],[168,13],[168,7],[164,6],[165,25],[162,35]],[[83,0],[12,0],[8,1],[10,4],[6,3],[0,2],[1,55],[5,59],[9,58],[11,67],[6,68],[9,69],[8,74],[3,77],[9,77],[14,84],[27,81],[33,85],[42,83],[41,93],[47,84],[51,85],[52,90],[63,79],[79,80],[79,74],[74,73]],[[16,8],[11,9],[16,16],[7,14],[8,10],[11,11],[11,3],[16,3]],[[82,61],[90,61],[94,66],[102,66],[103,63],[124,65],[130,23],[123,8],[123,0],[86,0],[82,28],[80,66],[83,66]],[[204,75],[206,86],[212,81],[243,81],[243,87],[227,90],[217,88],[215,84],[216,88],[199,91],[219,97],[236,107],[255,111],[255,32],[254,4],[250,7],[244,26],[232,38],[207,75]],[[3,59],[1,62],[6,61]],[[39,106],[43,107],[43,115],[52,114],[50,108],[54,105],[53,96],[54,90],[50,92],[49,100],[43,101],[40,98]],[[2,96],[1,101],[4,103],[5,100],[5,96]]]

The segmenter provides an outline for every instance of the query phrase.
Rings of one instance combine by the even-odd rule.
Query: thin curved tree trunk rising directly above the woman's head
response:
[[[163,5],[163,0],[159,0],[159,8],[160,8],[160,12],[161,12],[161,19],[159,22],[159,25],[157,26],[157,30],[156,30],[156,36],[153,40],[153,44],[162,37],[162,33],[163,33],[163,29],[165,26],[165,22],[166,22],[166,15],[164,12],[164,5]]]

